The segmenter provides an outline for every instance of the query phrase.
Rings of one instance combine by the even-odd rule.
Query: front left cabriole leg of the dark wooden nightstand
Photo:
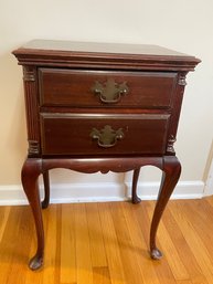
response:
[[[38,238],[36,253],[29,263],[29,266],[31,270],[38,270],[42,266],[43,254],[44,254],[44,230],[43,230],[43,220],[42,220],[40,193],[39,193],[39,186],[38,186],[38,178],[41,171],[42,171],[41,160],[29,158],[25,160],[21,172],[22,186],[32,209],[32,213],[35,222],[36,238]]]

